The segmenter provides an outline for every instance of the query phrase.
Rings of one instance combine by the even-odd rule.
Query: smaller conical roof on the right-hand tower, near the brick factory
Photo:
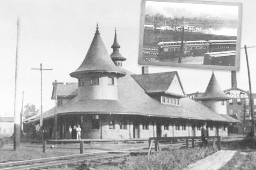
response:
[[[222,100],[229,100],[229,99],[230,98],[226,94],[224,94],[224,92],[221,90],[221,87],[218,84],[218,81],[215,78],[214,73],[212,71],[212,77],[209,81],[206,91],[201,97],[197,98],[197,100],[222,101]]]

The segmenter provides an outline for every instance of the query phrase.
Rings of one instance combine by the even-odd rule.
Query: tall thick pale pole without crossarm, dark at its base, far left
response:
[[[14,92],[14,139],[13,139],[13,150],[17,151],[20,149],[20,110],[18,109],[18,73],[19,73],[19,37],[20,37],[20,20],[17,19],[17,42],[16,42],[16,58],[15,58],[15,92]]]

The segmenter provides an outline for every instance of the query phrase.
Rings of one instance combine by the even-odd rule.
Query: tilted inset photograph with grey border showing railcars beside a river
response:
[[[241,3],[143,1],[139,64],[239,70]]]

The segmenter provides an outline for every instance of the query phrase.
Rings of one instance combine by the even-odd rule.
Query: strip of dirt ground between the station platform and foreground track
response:
[[[36,143],[20,143],[20,150],[14,151],[13,144],[4,144],[0,146],[0,163],[9,161],[22,161],[29,159],[40,159],[54,156],[65,156],[74,155],[80,153],[80,144],[55,144],[55,148],[51,149],[52,144],[47,144],[47,152],[43,153],[42,144]],[[114,142],[104,142],[93,144],[84,144],[84,153],[101,152],[108,150],[121,150],[136,147],[148,147],[148,143],[114,143]],[[143,151],[143,150],[141,150]],[[145,149],[145,152],[148,150]]]

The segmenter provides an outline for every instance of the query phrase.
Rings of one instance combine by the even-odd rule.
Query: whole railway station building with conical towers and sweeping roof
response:
[[[205,92],[208,98],[196,102],[186,95],[177,71],[149,74],[148,67],[143,67],[142,74],[133,74],[122,67],[126,58],[119,52],[116,33],[111,48],[109,55],[97,26],[84,61],[70,73],[78,82],[53,88],[52,99],[57,91],[59,138],[68,139],[68,128],[74,125],[81,126],[81,139],[201,136],[204,122],[210,136],[227,136],[226,127],[238,122],[227,113],[220,114],[218,104],[230,98],[215,88],[214,74]],[[55,108],[43,114],[49,133],[54,114]],[[38,124],[39,116],[24,122]]]

